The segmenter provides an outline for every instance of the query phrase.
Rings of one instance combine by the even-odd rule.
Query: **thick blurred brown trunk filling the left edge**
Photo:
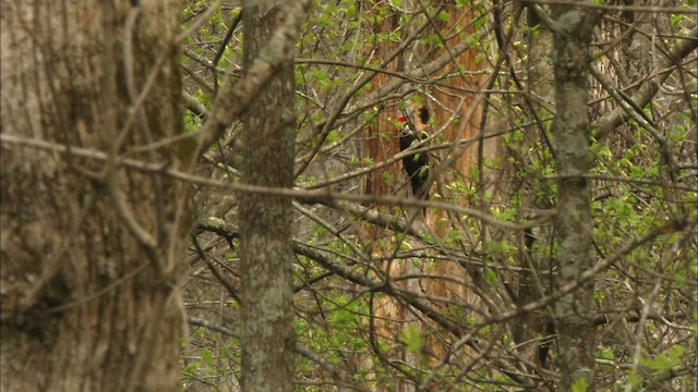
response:
[[[2,391],[178,388],[179,11],[2,3]]]

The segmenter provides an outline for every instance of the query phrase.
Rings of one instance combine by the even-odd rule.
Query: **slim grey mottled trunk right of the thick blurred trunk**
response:
[[[284,1],[245,1],[243,10],[245,72],[255,65],[255,60],[278,65],[275,66],[276,75],[243,113],[242,181],[288,188],[293,185],[296,140],[292,51],[274,52],[265,46],[285,23],[294,20],[289,19],[288,13],[293,12],[291,10],[304,13],[304,7]],[[263,59],[260,53],[276,59]],[[244,391],[293,390],[291,225],[290,198],[240,196]]]

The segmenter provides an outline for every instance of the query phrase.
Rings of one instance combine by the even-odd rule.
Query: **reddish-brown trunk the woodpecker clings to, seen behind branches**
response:
[[[370,9],[371,12],[375,14],[380,14],[382,10],[390,10],[388,7],[389,2],[375,2],[374,8]],[[428,16],[422,14],[421,12],[426,9],[426,4],[433,7],[428,11]],[[394,32],[400,32],[401,40],[399,42],[393,40],[385,40],[378,44],[380,49],[376,50],[374,47],[369,47],[368,51],[376,51],[377,57],[380,57],[384,63],[384,69],[392,72],[399,72],[405,74],[410,74],[414,72],[414,70],[424,69],[425,64],[432,63],[436,61],[443,56],[447,56],[448,60],[444,62],[441,66],[434,70],[434,74],[446,75],[452,74],[452,76],[447,79],[447,83],[438,87],[433,86],[419,86],[422,91],[418,91],[418,86],[411,84],[404,84],[397,90],[400,90],[406,94],[409,102],[411,98],[421,98],[422,101],[420,103],[410,102],[408,103],[408,108],[398,109],[398,106],[395,106],[395,102],[389,102],[386,105],[385,109],[383,109],[378,114],[375,123],[369,124],[364,133],[362,135],[363,143],[363,157],[371,158],[374,162],[383,162],[390,157],[395,156],[399,152],[398,148],[398,139],[397,137],[385,138],[381,135],[385,134],[394,134],[393,131],[395,128],[395,119],[400,115],[410,117],[410,121],[412,125],[420,131],[425,131],[428,134],[434,132],[434,130],[446,124],[454,112],[458,113],[460,117],[460,122],[452,123],[446,131],[444,132],[444,136],[448,140],[456,140],[460,138],[468,138],[473,135],[477,135],[481,110],[477,108],[477,99],[474,97],[464,97],[462,89],[473,89],[478,90],[480,87],[480,78],[478,76],[472,76],[470,74],[471,71],[476,71],[479,69],[479,64],[476,61],[477,51],[476,50],[467,50],[468,47],[461,50],[455,50],[458,46],[464,44],[464,36],[470,36],[474,34],[472,28],[472,13],[467,9],[458,9],[455,4],[441,3],[438,1],[432,2],[420,2],[420,1],[405,1],[402,2],[402,7],[406,10],[414,11],[414,19],[408,24],[405,28],[399,27],[399,20],[401,14],[399,11],[392,11],[387,15],[384,15],[383,23],[376,24],[374,26],[375,34],[390,34]],[[434,16],[436,15],[435,9],[440,9],[446,11],[448,14],[453,15],[447,21],[438,21]],[[397,9],[396,9],[397,10]],[[432,25],[433,23],[433,25]],[[421,30],[422,24],[426,26]],[[421,32],[420,32],[421,30]],[[416,39],[414,41],[408,41],[413,37],[420,36],[435,36],[440,35],[441,38],[444,39],[443,47],[434,46],[434,45],[424,45]],[[400,50],[400,47],[404,47]],[[446,49],[448,48],[448,49]],[[397,50],[400,50],[396,53]],[[373,56],[373,54],[372,54]],[[458,66],[462,66],[464,72],[457,72],[455,70]],[[474,72],[473,72],[474,73]],[[424,77],[434,77],[432,74],[425,74]],[[377,74],[372,83],[376,86],[375,90],[380,90],[381,88],[386,88],[386,86],[390,86],[392,78],[387,74]],[[393,87],[393,86],[390,86]],[[386,88],[386,91],[388,89]],[[412,91],[413,90],[413,91]],[[409,91],[409,94],[408,94]],[[428,91],[432,97],[431,99],[424,95]],[[433,99],[433,101],[432,101]],[[476,107],[476,109],[473,109]],[[429,123],[425,123],[420,118],[420,109],[426,109],[429,112],[429,117],[434,120],[436,125],[432,126]],[[494,154],[494,144],[488,144],[486,154]],[[460,173],[468,173],[468,169],[473,164],[473,162],[478,159],[478,149],[477,148],[453,148],[448,151],[449,157],[448,160],[453,162],[453,168]],[[432,164],[434,164],[435,160],[432,159]],[[445,168],[440,168],[440,171],[436,170],[435,166],[430,168],[431,173],[436,173],[434,176],[435,184],[432,184],[430,187],[430,194],[433,196],[434,193],[443,194],[444,189],[440,186],[445,180],[445,175],[443,171]],[[388,174],[388,175],[386,175]],[[431,174],[433,175],[433,174]],[[386,177],[397,179],[394,183],[385,181]],[[402,195],[407,195],[409,197],[413,197],[413,195],[408,191],[409,181],[405,176],[402,166],[400,162],[396,162],[396,164],[382,168],[371,172],[365,177],[363,192],[364,194],[373,194],[373,195],[385,195],[399,193]],[[398,186],[399,185],[399,186]],[[417,226],[428,228],[430,229],[436,236],[445,235],[448,226],[444,225],[443,222],[447,221],[447,213],[444,211],[435,213],[434,211],[426,209],[424,212],[424,217],[418,215],[418,208],[409,208],[404,213],[408,218],[414,218],[417,215],[417,221],[420,221]],[[441,223],[440,223],[441,222]],[[394,255],[394,246],[395,236],[394,233],[385,230],[384,228],[371,226],[363,228],[361,233],[361,237],[366,243],[373,242],[371,246],[373,246],[373,254],[378,257]],[[388,242],[387,247],[381,244],[382,240],[385,237],[393,236],[393,242]],[[400,238],[400,241],[411,242],[410,238]],[[419,246],[418,244],[414,244]],[[428,295],[440,297],[440,298],[448,298],[454,303],[466,302],[469,297],[470,293],[465,289],[465,282],[469,279],[466,277],[462,268],[454,262],[441,260],[437,264],[431,265],[431,260],[429,259],[414,259],[410,262],[400,262],[398,259],[388,259],[383,261],[383,270],[386,273],[383,279],[394,279],[395,277],[400,275],[409,275],[409,274],[421,274],[421,273],[433,273],[435,275],[449,275],[457,277],[457,279],[461,279],[460,282],[447,281],[443,279],[410,279],[398,283],[405,289],[411,290],[416,293],[422,291]],[[447,306],[440,303],[434,302],[434,307],[443,309],[444,314],[448,314]],[[408,366],[412,366],[418,368],[420,366],[420,360],[426,360],[431,363],[436,363],[442,359],[448,353],[448,347],[446,347],[440,340],[434,335],[430,336],[423,347],[424,353],[429,353],[430,355],[425,359],[419,359],[417,355],[405,350],[404,346],[396,344],[395,342],[400,342],[400,336],[404,330],[413,329],[414,327],[420,329],[432,329],[433,327],[424,327],[421,326],[420,321],[418,321],[421,315],[418,314],[413,308],[406,306],[399,301],[395,301],[395,298],[388,296],[378,297],[374,305],[374,320],[372,322],[376,326],[376,336],[389,336],[388,339],[378,339],[381,342],[386,342],[390,347],[388,351],[383,353],[376,352],[376,354],[385,362],[388,363],[388,357],[394,359],[395,357],[399,357]],[[454,307],[455,308],[455,307]],[[377,346],[377,345],[376,345]],[[466,348],[467,350],[467,348]],[[418,383],[413,380],[395,378],[390,380],[393,384],[390,388],[395,391],[399,392],[411,392],[418,390]],[[377,387],[374,387],[377,388]],[[381,385],[380,390],[387,390],[387,385]]]

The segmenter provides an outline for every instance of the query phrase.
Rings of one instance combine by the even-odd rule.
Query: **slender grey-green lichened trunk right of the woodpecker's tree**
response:
[[[591,167],[589,63],[595,13],[591,9],[553,8],[555,107],[553,125],[555,160],[559,181],[557,216],[556,284],[575,281],[593,264],[591,186],[583,177]],[[591,387],[593,380],[594,330],[593,283],[562,297],[555,305],[558,333],[561,390],[575,382]],[[580,379],[583,379],[580,380]]]

